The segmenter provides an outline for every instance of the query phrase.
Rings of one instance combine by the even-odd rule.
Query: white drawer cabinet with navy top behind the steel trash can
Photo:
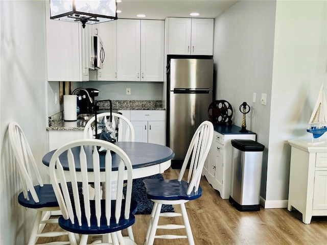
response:
[[[256,137],[253,132],[240,133],[240,130],[241,128],[235,125],[215,125],[213,142],[204,163],[202,175],[206,177],[214,189],[219,191],[222,199],[229,198],[231,189],[231,140],[255,140]]]

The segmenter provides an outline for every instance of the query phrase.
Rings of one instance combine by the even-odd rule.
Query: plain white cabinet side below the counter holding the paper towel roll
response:
[[[49,132],[49,150],[58,149],[65,143],[76,139],[83,139],[83,130],[50,130]]]

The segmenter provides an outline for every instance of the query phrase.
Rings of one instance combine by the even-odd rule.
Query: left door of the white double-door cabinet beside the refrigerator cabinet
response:
[[[141,80],[141,21],[117,20],[117,80]]]

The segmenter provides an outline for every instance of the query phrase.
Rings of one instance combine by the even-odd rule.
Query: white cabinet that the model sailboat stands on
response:
[[[289,140],[291,145],[288,210],[302,213],[302,222],[312,216],[327,216],[327,143]]]

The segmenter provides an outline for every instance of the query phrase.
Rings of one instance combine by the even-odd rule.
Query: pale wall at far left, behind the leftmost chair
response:
[[[27,244],[36,213],[17,202],[21,185],[7,126],[18,122],[42,169],[48,149],[44,23],[43,1],[0,1],[0,244]]]

